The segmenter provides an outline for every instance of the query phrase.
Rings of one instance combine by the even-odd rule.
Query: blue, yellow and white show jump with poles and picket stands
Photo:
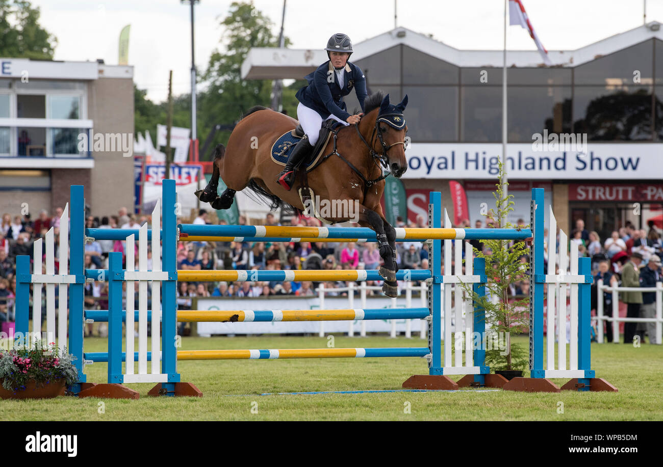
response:
[[[423,240],[430,246],[428,270],[402,270],[398,280],[420,280],[428,286],[428,307],[396,309],[337,309],[337,310],[221,310],[221,311],[178,311],[176,309],[176,283],[180,281],[325,281],[325,280],[381,280],[377,271],[364,270],[284,270],[284,271],[178,271],[176,269],[176,246],[184,241],[357,241],[375,242],[375,233],[365,228],[347,227],[272,227],[272,226],[221,226],[221,225],[176,225],[176,193],[172,180],[164,180],[162,199],[152,213],[152,229],[147,225],[141,229],[84,229],[83,187],[71,188],[71,205],[65,209],[61,225],[68,225],[67,213],[71,208],[71,232],[66,228],[60,235],[60,274],[54,274],[54,236],[50,231],[46,236],[46,274],[41,274],[41,264],[36,264],[34,274],[30,274],[28,256],[17,258],[17,331],[29,332],[30,284],[35,293],[46,287],[46,329],[49,342],[58,346],[66,345],[68,351],[78,358],[79,381],[70,388],[81,397],[127,397],[137,398],[138,393],[125,388],[126,383],[156,383],[149,395],[202,395],[190,383],[180,382],[176,372],[178,360],[270,360],[274,358],[374,358],[374,357],[418,357],[426,358],[428,374],[415,375],[402,385],[411,389],[457,389],[459,387],[488,387],[522,391],[574,390],[617,390],[595,378],[590,367],[589,354],[589,258],[577,257],[577,246],[572,244],[569,259],[566,254],[566,235],[561,233],[562,254],[560,271],[555,272],[555,254],[548,274],[543,274],[543,190],[532,190],[533,229],[452,229],[446,217],[442,228],[442,199],[440,193],[430,193],[429,222],[426,229],[396,229],[398,241]],[[163,215],[161,225],[161,215]],[[556,227],[552,211],[551,242],[555,244]],[[69,237],[69,238],[68,238]],[[473,333],[485,335],[483,310],[467,296],[459,284],[472,284],[473,291],[485,294],[485,262],[481,258],[465,264],[463,253],[471,258],[469,243],[458,240],[503,239],[527,240],[534,237],[532,244],[532,267],[530,283],[532,300],[530,303],[530,378],[516,378],[507,383],[501,376],[490,374],[485,366],[485,350],[473,346]],[[108,270],[84,270],[83,257],[86,240],[126,240],[127,265],[123,269],[121,253],[109,256]],[[138,238],[138,258],[134,257],[134,245]],[[69,245],[67,244],[69,240]],[[452,244],[452,240],[457,240]],[[152,268],[147,267],[148,244],[152,248]],[[162,244],[161,244],[162,242]],[[549,244],[551,244],[549,242]],[[66,251],[70,250],[70,257]],[[41,258],[42,243],[35,242],[35,257]],[[64,252],[64,254],[63,254]],[[444,271],[442,270],[444,255]],[[452,258],[455,266],[452,270]],[[570,265],[570,274],[567,268]],[[552,269],[551,269],[552,268]],[[551,272],[552,271],[552,272]],[[439,274],[442,272],[443,274]],[[83,309],[83,283],[86,280],[105,280],[109,283],[109,309]],[[138,307],[135,309],[135,282],[138,282]],[[126,283],[127,299],[123,309],[123,285]],[[55,285],[60,290],[60,319],[55,320]],[[544,284],[547,287],[544,287]],[[570,285],[568,285],[570,284]],[[148,309],[148,288],[151,287],[152,307]],[[547,340],[546,368],[544,368],[544,288],[548,297],[548,329],[556,325],[560,335],[566,335],[566,301],[556,303],[555,293],[566,296],[570,287],[572,296],[572,334],[569,346],[570,368],[566,368],[566,345],[560,345],[555,361],[555,333]],[[452,299],[453,305],[452,307]],[[67,307],[69,304],[69,320]],[[37,301],[38,302],[38,301]],[[444,309],[444,322],[442,310]],[[562,313],[563,312],[563,313]],[[41,313],[40,303],[33,309],[35,317]],[[458,331],[465,316],[464,333]],[[555,319],[557,317],[557,320]],[[562,319],[564,317],[564,319]],[[319,348],[319,349],[245,349],[245,350],[178,350],[172,344],[176,337],[178,322],[259,322],[259,321],[354,321],[368,319],[426,319],[428,321],[428,347],[423,348]],[[452,335],[452,320],[456,333]],[[108,321],[108,352],[84,352],[83,326],[86,322]],[[36,321],[40,322],[40,321]],[[152,324],[154,335],[151,348],[148,348],[147,323]],[[123,346],[123,323],[127,329],[134,329],[138,323],[137,346],[133,333],[129,333]],[[57,333],[56,333],[57,328]],[[462,328],[460,328],[462,329]],[[33,335],[40,335],[40,330]],[[452,352],[455,342],[462,342],[461,348]],[[444,346],[444,350],[442,348]],[[123,350],[123,347],[125,350]],[[154,356],[155,358],[152,358]],[[158,358],[156,358],[158,357]],[[86,382],[84,364],[108,362],[108,383],[91,384]],[[123,369],[123,362],[125,362]],[[150,363],[149,363],[150,362]],[[138,364],[136,371],[135,364]],[[463,375],[454,382],[450,375]],[[559,388],[548,378],[572,378]]]

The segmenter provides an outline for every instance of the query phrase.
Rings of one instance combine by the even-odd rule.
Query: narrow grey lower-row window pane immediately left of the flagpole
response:
[[[498,142],[502,140],[502,88],[499,86],[461,87],[461,141]]]

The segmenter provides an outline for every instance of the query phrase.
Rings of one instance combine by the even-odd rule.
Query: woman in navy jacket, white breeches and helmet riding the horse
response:
[[[294,166],[313,150],[324,120],[334,119],[343,125],[350,125],[359,123],[363,115],[350,115],[343,102],[343,96],[348,95],[353,86],[361,110],[364,109],[364,99],[367,96],[363,72],[358,66],[347,62],[353,52],[350,38],[345,34],[334,34],[327,41],[325,50],[330,60],[307,75],[308,85],[295,95],[299,101],[297,117],[306,134],[296,144],[285,168],[278,174],[278,183],[287,190],[290,190],[294,183]]]

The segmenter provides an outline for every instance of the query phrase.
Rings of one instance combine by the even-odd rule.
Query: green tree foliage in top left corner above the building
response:
[[[39,25],[38,7],[25,0],[0,0],[0,56],[52,60],[57,38]]]

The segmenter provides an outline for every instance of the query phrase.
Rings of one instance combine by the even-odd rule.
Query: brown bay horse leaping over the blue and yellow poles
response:
[[[407,126],[402,115],[407,101],[405,96],[400,103],[392,105],[389,94],[371,94],[364,102],[365,115],[361,121],[333,130],[335,134],[322,153],[328,156],[306,174],[308,186],[319,199],[357,201],[359,225],[377,234],[384,261],[379,274],[385,278],[383,292],[389,297],[397,295],[398,264],[396,231],[385,219],[380,205],[386,177],[381,164],[396,178],[407,170],[404,141]],[[214,209],[229,209],[235,192],[248,187],[271,201],[272,209],[284,207],[303,211],[304,203],[298,194],[302,177],[298,176],[292,190],[287,191],[276,182],[281,167],[271,158],[272,144],[297,124],[292,117],[265,107],[250,109],[231,133],[227,148],[223,144],[216,146],[210,183],[204,190],[196,191],[200,201],[210,203]],[[304,164],[299,170],[306,170]],[[227,186],[221,196],[217,194],[219,176]],[[350,220],[348,213],[335,214],[336,217],[325,217],[325,220],[330,223]]]

